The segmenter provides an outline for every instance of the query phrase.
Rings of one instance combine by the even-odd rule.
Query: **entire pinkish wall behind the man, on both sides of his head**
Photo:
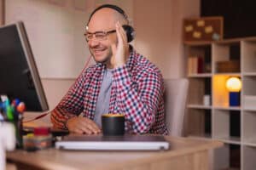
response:
[[[182,20],[199,15],[200,0],[8,0],[6,23],[26,22],[41,77],[74,78],[89,55],[81,36],[84,23],[92,7],[101,3],[125,9],[137,31],[135,48],[158,65],[164,77],[184,77]]]

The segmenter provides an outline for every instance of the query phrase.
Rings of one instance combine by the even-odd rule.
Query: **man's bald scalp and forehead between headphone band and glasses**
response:
[[[88,23],[88,31],[102,31],[106,29],[113,29],[118,21],[121,25],[128,25],[128,20],[123,14],[120,14],[113,8],[101,8],[97,10],[94,14],[92,14]]]

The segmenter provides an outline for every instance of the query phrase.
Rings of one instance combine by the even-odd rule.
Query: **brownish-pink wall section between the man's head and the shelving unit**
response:
[[[135,47],[159,66],[164,77],[185,76],[183,18],[199,16],[199,0],[134,1]]]

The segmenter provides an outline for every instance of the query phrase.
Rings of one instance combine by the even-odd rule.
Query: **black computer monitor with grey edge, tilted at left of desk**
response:
[[[25,102],[26,111],[49,110],[21,21],[0,27],[0,94]]]

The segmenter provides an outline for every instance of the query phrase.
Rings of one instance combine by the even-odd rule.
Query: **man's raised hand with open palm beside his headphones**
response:
[[[110,62],[111,65],[113,65],[113,68],[125,65],[126,59],[129,56],[129,44],[127,42],[126,32],[119,22],[116,23],[115,28],[118,41],[117,44],[111,46],[113,57]]]

